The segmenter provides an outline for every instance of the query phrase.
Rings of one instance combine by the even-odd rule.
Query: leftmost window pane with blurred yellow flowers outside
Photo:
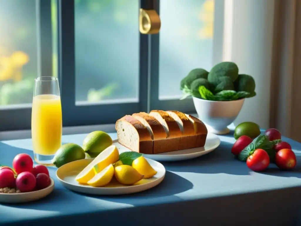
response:
[[[0,0],[0,108],[31,103],[36,76],[36,1]]]

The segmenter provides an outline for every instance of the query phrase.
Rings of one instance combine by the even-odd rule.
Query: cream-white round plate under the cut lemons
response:
[[[92,187],[89,185],[79,184],[75,177],[82,171],[94,158],[81,159],[74,162],[69,162],[57,169],[57,179],[61,184],[73,191],[94,194],[94,195],[122,195],[136,193],[155,187],[160,184],[165,176],[165,168],[160,162],[147,159],[147,162],[157,171],[157,174],[152,178],[142,179],[133,185],[122,185],[117,182],[115,177],[105,187]]]

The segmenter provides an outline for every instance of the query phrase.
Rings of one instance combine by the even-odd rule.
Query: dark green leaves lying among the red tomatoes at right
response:
[[[247,147],[244,148],[244,150],[242,150],[239,155],[238,155],[238,159],[240,161],[246,161],[247,158],[253,154],[253,152],[255,151],[255,149],[264,149],[269,157],[270,157],[270,161],[273,162],[275,161],[275,156],[276,156],[276,152],[273,150],[273,146],[276,143],[280,143],[281,140],[273,140],[270,141],[268,139],[268,136],[261,134],[258,137],[256,137],[252,143],[250,143]]]

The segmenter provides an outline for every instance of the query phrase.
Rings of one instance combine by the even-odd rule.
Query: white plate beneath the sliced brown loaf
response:
[[[206,138],[205,146],[199,148],[190,148],[190,149],[183,149],[173,152],[164,152],[154,155],[146,155],[143,154],[145,158],[153,159],[156,161],[181,161],[187,159],[194,159],[202,155],[206,155],[209,152],[212,152],[216,149],[221,143],[221,140],[218,136],[213,133],[208,133]],[[125,146],[118,143],[118,140],[113,140],[113,144],[118,148],[119,153],[131,151],[130,149],[126,148]]]

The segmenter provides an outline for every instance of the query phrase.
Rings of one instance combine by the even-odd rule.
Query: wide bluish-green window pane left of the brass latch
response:
[[[138,0],[76,0],[76,104],[138,102]]]

